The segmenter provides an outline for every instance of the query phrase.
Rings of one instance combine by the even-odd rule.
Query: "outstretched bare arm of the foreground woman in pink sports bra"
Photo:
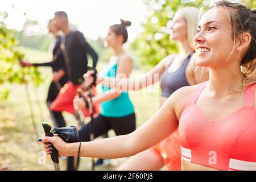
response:
[[[177,129],[181,111],[191,97],[193,86],[186,86],[172,94],[165,104],[141,127],[133,133],[82,142],[80,156],[96,158],[122,158],[135,155],[154,146],[170,136]],[[42,142],[50,142],[59,151],[59,155],[77,156],[79,143],[65,143],[59,137],[42,137]],[[48,145],[43,144],[47,154]]]

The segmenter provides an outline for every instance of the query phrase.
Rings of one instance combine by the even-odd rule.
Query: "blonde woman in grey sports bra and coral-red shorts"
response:
[[[147,80],[151,80],[150,78],[159,75],[159,84],[162,89],[160,106],[162,106],[168,97],[177,89],[207,81],[209,79],[208,72],[206,71],[202,74],[202,68],[196,67],[195,63],[196,53],[193,46],[193,37],[196,35],[195,30],[198,23],[198,16],[199,9],[187,6],[177,10],[174,18],[172,18],[170,39],[179,44],[179,53],[177,55],[172,54],[164,57],[163,60],[142,77],[118,79],[98,76],[98,84],[111,88],[122,85],[124,91],[130,89],[139,90],[155,84],[158,80]],[[90,71],[84,75],[87,85],[92,84],[92,73]],[[181,150],[178,130],[154,147],[131,156],[116,170],[156,171],[164,166],[169,171],[180,171],[181,169]]]

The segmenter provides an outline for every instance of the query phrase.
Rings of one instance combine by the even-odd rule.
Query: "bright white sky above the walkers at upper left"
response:
[[[143,1],[138,0],[2,0],[0,11],[7,11],[7,27],[20,31],[27,19],[38,21],[38,27],[28,30],[29,34],[45,34],[47,22],[53,18],[55,11],[65,11],[69,22],[90,39],[104,37],[111,24],[119,23],[119,19],[132,22],[129,27],[129,40],[135,39],[140,32],[140,26],[147,11]],[[26,13],[26,16],[24,15]]]

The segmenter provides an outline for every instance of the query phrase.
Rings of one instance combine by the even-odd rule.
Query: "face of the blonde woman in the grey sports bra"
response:
[[[170,30],[170,39],[175,41],[187,39],[187,22],[179,11],[177,11],[172,19]]]

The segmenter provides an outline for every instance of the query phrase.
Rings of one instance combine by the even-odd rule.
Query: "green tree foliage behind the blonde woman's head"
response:
[[[166,25],[175,12],[184,6],[200,7],[208,0],[144,0],[148,15],[142,23],[142,33],[132,44],[138,61],[143,66],[153,67],[163,57],[177,52],[177,44],[172,42],[166,31]],[[239,2],[239,1],[238,1]],[[242,0],[247,7],[255,7],[255,0]]]

